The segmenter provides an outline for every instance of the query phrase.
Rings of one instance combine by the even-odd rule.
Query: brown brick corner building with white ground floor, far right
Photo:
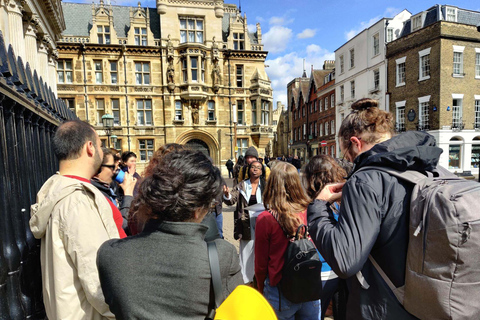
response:
[[[387,45],[388,94],[397,131],[426,130],[440,165],[478,173],[480,12],[435,5],[412,15]]]

